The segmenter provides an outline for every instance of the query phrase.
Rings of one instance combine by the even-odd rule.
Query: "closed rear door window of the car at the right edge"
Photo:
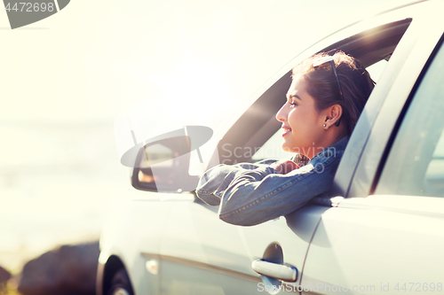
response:
[[[408,106],[375,194],[444,197],[444,50]]]

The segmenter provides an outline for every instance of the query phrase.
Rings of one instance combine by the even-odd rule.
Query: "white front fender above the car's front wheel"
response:
[[[100,237],[99,265],[107,264],[110,257],[117,257],[127,269],[137,294],[152,295],[159,294],[159,276],[149,273],[146,263],[148,260],[160,260],[158,253],[163,224],[171,207],[168,201],[159,202],[156,193],[147,192],[145,195],[145,198],[123,200],[116,205],[120,215],[107,222]],[[185,195],[181,197],[181,200],[186,198]],[[156,205],[155,210],[153,204]]]

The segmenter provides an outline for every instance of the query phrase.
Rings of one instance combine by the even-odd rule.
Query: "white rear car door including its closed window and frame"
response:
[[[369,138],[354,136],[345,151],[337,174],[352,170],[351,182],[337,175],[346,198],[335,198],[321,216],[305,260],[303,294],[443,291],[442,22],[434,19],[422,32]]]

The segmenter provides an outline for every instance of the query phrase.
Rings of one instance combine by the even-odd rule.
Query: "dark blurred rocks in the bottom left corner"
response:
[[[45,252],[16,276],[0,267],[0,295],[94,295],[98,259],[99,242],[91,242]]]

